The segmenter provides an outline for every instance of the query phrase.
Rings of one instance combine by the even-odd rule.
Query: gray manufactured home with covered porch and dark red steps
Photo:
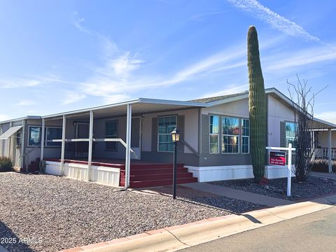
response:
[[[287,146],[295,137],[293,102],[275,88],[265,92],[267,146]],[[134,188],[170,184],[170,132],[177,127],[182,139],[177,160],[183,164],[179,183],[253,177],[248,92],[189,102],[139,98],[0,125],[0,155],[9,156],[24,171],[39,169],[41,158],[51,174]],[[317,118],[311,125],[336,128]],[[269,179],[286,174],[286,167],[265,168]]]

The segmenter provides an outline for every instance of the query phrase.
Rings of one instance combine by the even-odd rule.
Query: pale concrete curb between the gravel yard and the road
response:
[[[271,225],[280,221],[286,221],[291,218],[328,209],[335,204],[336,195],[330,195],[309,202],[298,202],[281,207],[251,211],[245,214],[231,214],[185,225],[151,230],[131,237],[70,248],[62,252],[177,251],[214,239],[235,235],[239,232],[253,230],[265,225]]]

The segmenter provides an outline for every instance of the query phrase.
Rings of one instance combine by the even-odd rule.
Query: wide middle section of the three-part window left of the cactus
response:
[[[239,118],[222,118],[222,153],[239,153]]]

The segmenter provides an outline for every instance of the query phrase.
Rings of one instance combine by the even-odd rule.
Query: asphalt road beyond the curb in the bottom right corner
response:
[[[336,251],[336,207],[209,241],[182,251]]]

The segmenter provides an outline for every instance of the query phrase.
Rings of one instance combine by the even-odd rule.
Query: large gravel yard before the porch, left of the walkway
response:
[[[58,251],[259,207],[228,197],[172,200],[58,176],[0,173],[0,237],[16,239],[0,245]],[[23,238],[29,244],[18,244]]]

